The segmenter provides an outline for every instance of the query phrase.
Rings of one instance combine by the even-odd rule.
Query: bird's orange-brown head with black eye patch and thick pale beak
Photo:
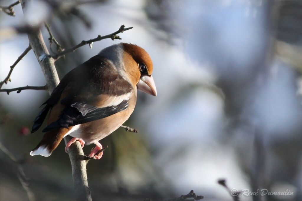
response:
[[[123,63],[130,82],[137,89],[153,96],[157,95],[152,77],[153,63],[149,54],[140,46],[121,43],[123,46]]]

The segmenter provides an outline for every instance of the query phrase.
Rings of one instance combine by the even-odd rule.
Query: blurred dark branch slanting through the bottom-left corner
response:
[[[31,189],[29,188],[29,183],[28,183],[28,179],[24,173],[24,170],[22,168],[22,166],[20,165],[19,161],[14,157],[14,155],[11,154],[10,151],[8,151],[8,149],[6,149],[5,146],[2,145],[2,143],[0,143],[0,150],[5,153],[5,155],[8,156],[8,158],[11,159],[11,161],[13,161],[16,165],[17,165],[17,169],[18,169],[18,179],[23,187],[23,189],[26,191],[27,193],[27,197],[30,201],[35,201],[35,195],[34,193],[31,191]]]

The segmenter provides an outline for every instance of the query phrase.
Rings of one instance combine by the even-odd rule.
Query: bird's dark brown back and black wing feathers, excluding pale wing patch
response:
[[[31,132],[33,133],[41,127],[50,109],[51,113],[47,124],[49,125],[61,118],[67,122],[61,121],[59,124],[61,127],[81,124],[84,121],[86,123],[112,115],[126,109],[127,104],[123,103],[118,107],[101,109],[95,107],[97,104],[94,100],[95,97],[99,95],[121,96],[131,90],[130,83],[117,73],[111,61],[101,55],[96,55],[63,77],[50,98],[43,103],[46,106],[34,120]],[[63,102],[61,103],[61,101]],[[84,118],[83,112],[88,115],[86,118]]]

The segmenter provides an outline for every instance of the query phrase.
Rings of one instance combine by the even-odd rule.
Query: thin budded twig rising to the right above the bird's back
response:
[[[82,47],[84,45],[87,45],[87,44],[92,44],[93,42],[96,42],[96,41],[100,41],[100,40],[103,40],[103,39],[106,39],[106,38],[111,38],[112,40],[114,40],[114,39],[121,39],[120,36],[117,36],[117,34],[123,33],[124,31],[127,31],[127,30],[132,29],[132,28],[133,27],[125,28],[125,25],[122,25],[122,26],[120,26],[120,29],[117,30],[114,33],[108,34],[106,36],[98,35],[98,37],[96,37],[94,39],[90,39],[90,40],[82,40],[82,42],[80,42],[78,45],[73,46],[73,47],[71,47],[69,49],[66,49],[63,52],[59,52],[56,55],[47,55],[47,56],[48,57],[52,57],[52,58],[54,58],[54,59],[57,60],[58,58],[62,57],[63,55],[66,55],[67,53],[74,52],[76,49],[78,49],[78,48],[80,48],[80,47]]]

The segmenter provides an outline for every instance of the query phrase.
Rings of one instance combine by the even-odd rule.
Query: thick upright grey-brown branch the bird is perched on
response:
[[[22,0],[21,5],[24,12],[26,7],[27,0]],[[46,83],[48,86],[48,92],[54,90],[54,88],[59,84],[59,77],[54,65],[54,59],[47,57],[49,54],[45,42],[42,37],[41,30],[34,30],[30,33],[27,33],[29,43],[34,50],[34,53],[39,61],[41,69],[43,71]],[[70,140],[70,137],[65,137],[65,143]],[[87,181],[87,172],[86,172],[86,161],[81,161],[79,155],[84,155],[82,147],[79,142],[74,143],[69,149],[69,159],[72,167],[72,177],[75,187],[75,195],[77,200],[81,201],[92,201],[90,190],[88,187]]]

